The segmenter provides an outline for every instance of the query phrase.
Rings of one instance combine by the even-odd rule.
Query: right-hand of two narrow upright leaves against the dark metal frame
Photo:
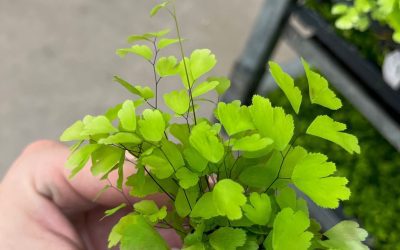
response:
[[[332,110],[340,109],[342,101],[329,89],[328,81],[320,74],[312,71],[304,59],[301,59],[301,61],[308,80],[311,103],[316,103]]]

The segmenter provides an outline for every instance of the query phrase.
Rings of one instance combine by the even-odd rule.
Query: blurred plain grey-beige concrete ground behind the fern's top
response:
[[[156,2],[0,0],[0,177],[26,144],[129,98],[114,74],[152,84],[149,65],[114,51],[130,34],[172,27],[164,13],[148,16]],[[186,51],[210,48],[214,74],[228,75],[263,0],[177,2]],[[290,57],[283,48],[277,57]]]

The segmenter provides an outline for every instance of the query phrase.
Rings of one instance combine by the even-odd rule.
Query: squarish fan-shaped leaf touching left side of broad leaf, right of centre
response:
[[[224,126],[229,136],[254,129],[248,107],[240,106],[240,101],[218,103],[218,120]]]

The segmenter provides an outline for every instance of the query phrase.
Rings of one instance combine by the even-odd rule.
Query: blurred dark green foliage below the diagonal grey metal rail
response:
[[[296,79],[296,83],[302,91],[307,89],[305,76]],[[268,98],[286,110],[290,108],[290,102],[279,90],[268,94]],[[301,131],[315,115],[326,113],[305,99],[297,128]],[[352,198],[344,202],[345,214],[363,223],[374,238],[376,249],[400,249],[400,153],[346,100],[343,100],[341,110],[327,114],[348,124],[360,139],[362,150],[359,156],[344,154],[340,147],[312,137],[301,137],[297,141],[311,151],[326,154],[337,163],[339,173],[349,178]]]

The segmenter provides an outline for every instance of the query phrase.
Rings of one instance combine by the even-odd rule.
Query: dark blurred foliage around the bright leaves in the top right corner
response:
[[[383,64],[385,55],[398,48],[392,40],[393,31],[383,23],[373,23],[370,28],[360,31],[358,29],[339,29],[335,27],[338,15],[332,14],[334,0],[306,0],[306,6],[318,12],[334,28],[336,33],[345,40],[354,44],[362,56],[378,66]]]

